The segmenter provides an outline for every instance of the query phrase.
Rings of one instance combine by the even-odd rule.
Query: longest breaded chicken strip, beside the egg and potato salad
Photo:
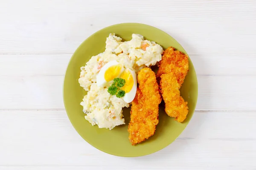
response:
[[[161,96],[154,71],[143,68],[139,71],[139,86],[131,102],[131,121],[128,125],[132,145],[143,142],[154,135],[158,124],[158,109]]]

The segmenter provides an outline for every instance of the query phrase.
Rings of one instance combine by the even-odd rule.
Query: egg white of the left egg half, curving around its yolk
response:
[[[111,67],[111,66],[113,66],[113,65],[118,65],[118,64],[121,64],[121,65],[122,65],[121,70],[120,70],[120,73],[119,73],[119,75],[117,76],[117,77],[120,77],[120,75],[122,74],[122,72],[125,70],[125,68],[123,67],[123,64],[117,62],[116,60],[110,61],[110,62],[108,62],[107,64],[105,64],[105,65],[101,68],[101,70],[99,71],[99,74],[97,74],[97,76],[96,76],[96,84],[97,84],[97,86],[99,86],[99,87],[106,87],[106,86],[111,85],[111,84],[113,83],[113,80],[107,82],[107,81],[105,80],[104,75],[105,75],[105,72],[108,70],[109,67]]]

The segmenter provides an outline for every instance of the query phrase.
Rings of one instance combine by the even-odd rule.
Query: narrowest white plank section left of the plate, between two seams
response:
[[[64,76],[71,56],[72,54],[3,54],[0,55],[0,76]]]

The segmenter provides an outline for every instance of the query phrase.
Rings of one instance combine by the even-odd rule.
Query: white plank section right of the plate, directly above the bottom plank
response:
[[[255,76],[198,77],[198,103],[200,111],[255,111]]]

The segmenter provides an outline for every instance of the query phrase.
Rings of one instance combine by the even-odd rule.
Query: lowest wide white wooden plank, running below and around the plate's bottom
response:
[[[87,144],[65,111],[0,111],[0,117],[1,170],[256,168],[255,111],[195,112],[175,142],[136,159],[111,156]]]

